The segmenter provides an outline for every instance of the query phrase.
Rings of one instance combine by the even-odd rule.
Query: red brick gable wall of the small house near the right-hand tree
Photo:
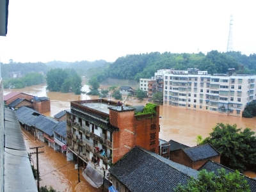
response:
[[[181,149],[170,152],[170,160],[176,163],[184,164],[191,168],[193,166],[191,159],[189,159],[189,157]]]

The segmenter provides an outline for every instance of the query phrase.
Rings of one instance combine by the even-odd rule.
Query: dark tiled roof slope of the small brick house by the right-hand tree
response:
[[[195,147],[182,148],[187,156],[192,161],[200,161],[214,156],[219,156],[219,152],[216,151],[210,144],[198,145]]]

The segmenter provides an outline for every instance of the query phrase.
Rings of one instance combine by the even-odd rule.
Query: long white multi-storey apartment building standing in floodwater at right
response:
[[[255,99],[256,76],[164,73],[164,105],[241,116]]]

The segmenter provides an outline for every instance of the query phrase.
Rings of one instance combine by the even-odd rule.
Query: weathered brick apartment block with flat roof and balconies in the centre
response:
[[[136,145],[158,153],[159,106],[136,115],[132,106],[104,99],[71,102],[67,112],[67,158],[92,164],[100,173]]]

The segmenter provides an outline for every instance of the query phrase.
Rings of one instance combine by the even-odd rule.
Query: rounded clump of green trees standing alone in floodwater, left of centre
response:
[[[47,89],[51,92],[81,93],[81,77],[73,69],[55,68],[46,74]]]

